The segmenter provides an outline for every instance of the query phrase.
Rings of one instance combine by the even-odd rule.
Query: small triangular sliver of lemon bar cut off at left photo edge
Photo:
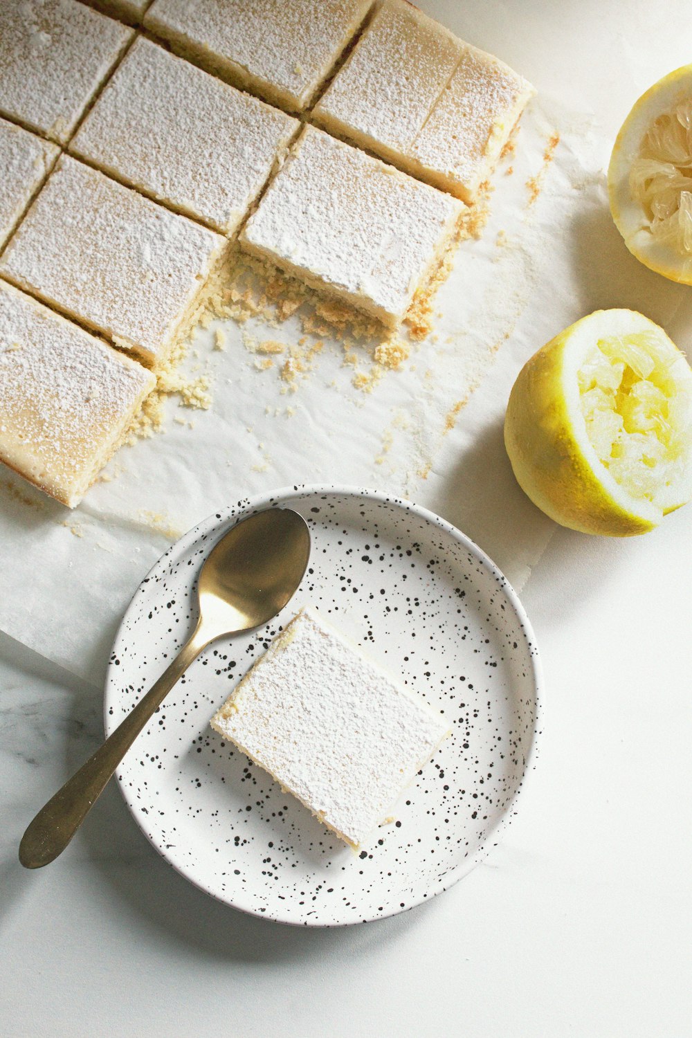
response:
[[[60,148],[28,130],[0,119],[0,249],[32,195],[50,172]]]

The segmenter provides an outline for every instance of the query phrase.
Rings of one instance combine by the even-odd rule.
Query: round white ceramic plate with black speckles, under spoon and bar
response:
[[[113,646],[110,733],[194,623],[200,565],[240,517],[287,506],[310,526],[303,583],[272,623],[210,646],[128,754],[118,781],[154,846],[197,886],[268,919],[336,926],[411,908],[464,876],[515,814],[538,728],[531,629],[463,534],[366,490],[298,487],[190,530],[142,582]],[[209,721],[270,639],[311,602],[436,709],[452,736],[366,850],[341,844]]]

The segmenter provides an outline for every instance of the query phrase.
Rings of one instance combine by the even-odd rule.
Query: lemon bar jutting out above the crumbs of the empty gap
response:
[[[242,247],[395,327],[463,206],[306,127],[241,233]]]

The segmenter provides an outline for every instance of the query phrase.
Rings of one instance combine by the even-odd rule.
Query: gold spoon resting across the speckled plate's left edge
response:
[[[289,509],[267,509],[236,524],[199,572],[199,620],[175,659],[103,746],[40,809],[22,837],[20,862],[39,869],[60,854],[126,753],[204,646],[259,627],[293,598],[310,554],[307,523]]]

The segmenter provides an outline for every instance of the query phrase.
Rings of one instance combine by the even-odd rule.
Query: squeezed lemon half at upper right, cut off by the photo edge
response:
[[[615,140],[608,195],[633,255],[692,284],[692,65],[637,101]]]

